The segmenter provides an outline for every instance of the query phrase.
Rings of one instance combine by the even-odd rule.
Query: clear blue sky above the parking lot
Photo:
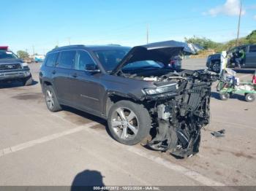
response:
[[[43,54],[56,44],[135,46],[206,36],[236,38],[239,0],[1,0],[0,45]],[[241,36],[256,29],[256,1],[243,0]]]

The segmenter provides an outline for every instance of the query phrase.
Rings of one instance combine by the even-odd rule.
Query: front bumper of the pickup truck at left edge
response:
[[[31,76],[31,72],[29,69],[0,71],[0,80],[23,79],[29,76]]]

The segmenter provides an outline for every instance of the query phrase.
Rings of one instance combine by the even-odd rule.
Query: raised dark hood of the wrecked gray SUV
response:
[[[192,54],[189,47],[185,46],[184,42],[169,41],[167,44],[165,42],[156,42],[151,44],[146,44],[138,47],[133,47],[127,55],[118,63],[116,69],[113,69],[111,74],[116,74],[121,68],[126,66],[128,63],[133,63],[136,61],[157,61],[164,64],[170,63],[170,58],[172,56],[184,54]]]

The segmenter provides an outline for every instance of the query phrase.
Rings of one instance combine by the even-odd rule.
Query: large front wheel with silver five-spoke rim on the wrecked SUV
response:
[[[151,117],[142,104],[118,101],[110,108],[108,128],[121,144],[135,145],[143,141],[151,128]]]

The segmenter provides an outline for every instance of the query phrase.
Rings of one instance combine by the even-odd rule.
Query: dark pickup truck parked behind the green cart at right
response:
[[[238,52],[239,50],[244,50],[245,52],[245,60],[244,64],[241,65],[241,68],[256,68],[256,44],[247,44],[239,47],[234,47],[231,50],[228,50],[228,55],[232,55],[233,52]],[[214,54],[209,55],[206,61],[206,66],[210,71],[219,72],[220,69],[220,55],[221,54]],[[227,62],[227,67],[233,68],[236,64],[234,63],[233,59],[229,59]]]

